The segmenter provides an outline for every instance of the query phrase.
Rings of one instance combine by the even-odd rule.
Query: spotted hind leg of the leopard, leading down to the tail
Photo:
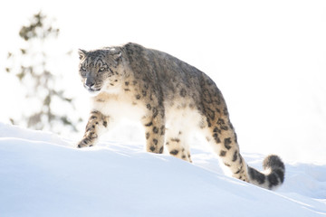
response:
[[[249,182],[247,165],[240,155],[235,129],[232,126],[225,100],[213,80],[203,75],[200,80],[200,111],[205,119],[206,138],[223,164],[235,178]]]

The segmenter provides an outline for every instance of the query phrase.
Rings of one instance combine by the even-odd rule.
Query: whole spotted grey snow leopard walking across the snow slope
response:
[[[140,121],[146,150],[192,162],[189,139],[201,133],[232,176],[267,189],[283,184],[279,156],[260,172],[245,163],[225,99],[204,72],[136,43],[79,50],[79,74],[91,94],[91,112],[78,147],[94,146],[121,118]]]

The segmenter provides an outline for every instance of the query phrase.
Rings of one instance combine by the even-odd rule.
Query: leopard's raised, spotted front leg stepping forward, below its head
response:
[[[104,116],[100,111],[91,111],[90,118],[86,125],[86,131],[78,147],[94,146],[99,137],[109,126],[110,117]]]

